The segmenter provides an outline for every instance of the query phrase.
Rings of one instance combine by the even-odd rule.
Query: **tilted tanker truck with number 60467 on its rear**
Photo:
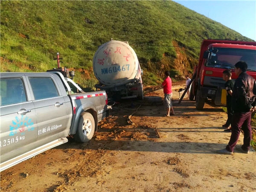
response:
[[[134,49],[127,41],[102,44],[93,57],[96,89],[105,90],[108,100],[143,99],[142,70]]]

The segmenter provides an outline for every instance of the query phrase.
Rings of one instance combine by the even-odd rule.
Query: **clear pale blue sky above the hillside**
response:
[[[173,0],[256,41],[256,0]]]

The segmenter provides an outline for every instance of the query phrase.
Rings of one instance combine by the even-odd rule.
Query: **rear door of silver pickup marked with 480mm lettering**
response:
[[[33,92],[33,103],[37,113],[38,140],[48,143],[61,137],[67,137],[70,130],[68,121],[72,116],[70,99],[67,100],[61,95],[60,87],[53,75],[48,73],[46,76],[27,75],[27,77]],[[68,107],[71,112],[67,110]]]

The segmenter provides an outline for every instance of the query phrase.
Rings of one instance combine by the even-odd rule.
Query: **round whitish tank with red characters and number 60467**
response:
[[[102,44],[93,57],[93,72],[105,86],[126,84],[140,78],[140,64],[128,42],[108,41]]]

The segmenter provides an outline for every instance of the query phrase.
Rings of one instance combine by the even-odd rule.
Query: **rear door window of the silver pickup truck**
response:
[[[49,99],[53,97],[58,97],[58,89],[56,88],[52,79],[49,78],[29,78],[35,100],[39,99]]]

